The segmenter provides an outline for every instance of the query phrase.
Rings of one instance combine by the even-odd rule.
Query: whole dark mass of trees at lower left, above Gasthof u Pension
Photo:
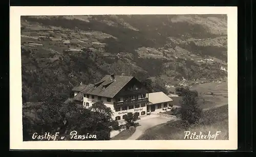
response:
[[[25,141],[32,140],[35,132],[38,135],[59,132],[60,137],[69,136],[73,130],[79,135],[96,135],[97,139],[92,140],[110,140],[112,112],[102,101],[95,101],[89,109],[85,109],[74,101],[62,103],[59,94],[50,91],[45,93],[43,100],[40,108],[23,109]]]

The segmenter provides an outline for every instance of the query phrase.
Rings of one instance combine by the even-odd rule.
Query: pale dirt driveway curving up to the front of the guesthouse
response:
[[[172,120],[172,118],[165,118],[161,116],[141,120],[139,121],[140,126],[136,127],[136,131],[134,132],[134,134],[127,140],[136,140],[145,132],[146,129],[156,126],[158,124],[166,123],[169,120]]]

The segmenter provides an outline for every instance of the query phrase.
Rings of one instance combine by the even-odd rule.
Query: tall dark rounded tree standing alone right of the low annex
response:
[[[198,92],[190,91],[189,88],[184,89],[184,96],[180,101],[180,114],[182,120],[188,124],[198,122],[201,117],[202,110],[198,107]]]

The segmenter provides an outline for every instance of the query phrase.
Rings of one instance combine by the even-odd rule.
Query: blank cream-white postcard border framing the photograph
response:
[[[229,140],[23,142],[20,16],[87,14],[227,14]],[[237,51],[237,7],[10,7],[10,149],[237,149]]]

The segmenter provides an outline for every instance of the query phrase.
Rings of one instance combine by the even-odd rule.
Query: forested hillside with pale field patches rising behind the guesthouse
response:
[[[109,73],[163,85],[227,76],[223,15],[22,16],[21,29],[24,101]]]

